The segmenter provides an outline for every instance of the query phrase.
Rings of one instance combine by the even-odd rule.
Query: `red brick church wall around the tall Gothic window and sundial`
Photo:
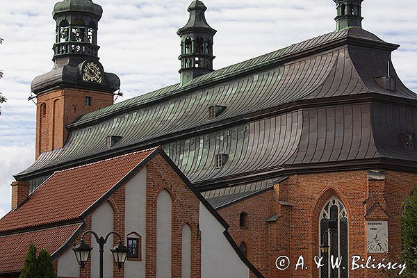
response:
[[[383,258],[399,262],[402,204],[416,186],[417,174],[403,172],[387,171],[382,180],[368,180],[367,171],[300,174],[219,213],[231,225],[236,243],[247,243],[248,258],[265,277],[313,278],[318,277],[313,258],[319,254],[319,214],[330,197],[341,199],[348,213],[349,256],[372,255],[377,262]],[[239,227],[243,211],[248,213],[246,229]],[[272,215],[278,219],[266,222]],[[388,220],[389,254],[368,254],[367,220]],[[283,255],[291,259],[291,266],[280,271],[275,260]],[[295,272],[300,255],[307,269]],[[384,272],[350,270],[350,277],[384,277]]]

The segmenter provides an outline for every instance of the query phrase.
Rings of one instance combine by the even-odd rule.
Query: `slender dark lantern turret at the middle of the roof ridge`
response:
[[[181,37],[181,85],[187,85],[197,76],[213,72],[213,36],[217,31],[206,22],[206,10],[202,1],[193,1],[188,7],[188,23],[177,32]]]

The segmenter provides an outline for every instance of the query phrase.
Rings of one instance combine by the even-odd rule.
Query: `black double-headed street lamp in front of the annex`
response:
[[[87,262],[88,258],[90,257],[90,253],[92,250],[92,247],[90,247],[88,244],[84,242],[84,236],[86,234],[92,234],[95,237],[95,240],[99,244],[99,252],[100,252],[100,276],[99,278],[103,278],[103,253],[104,253],[104,245],[107,243],[108,237],[112,234],[115,234],[119,238],[119,243],[111,248],[111,252],[113,254],[113,260],[115,261],[117,268],[119,270],[123,267],[124,262],[127,258],[127,253],[129,253],[129,248],[124,246],[122,243],[122,237],[120,234],[117,234],[115,231],[111,231],[108,233],[105,237],[98,236],[94,231],[85,231],[83,235],[81,236],[81,242],[79,245],[76,245],[72,250],[74,250],[76,261],[78,261],[81,268],[83,268]]]

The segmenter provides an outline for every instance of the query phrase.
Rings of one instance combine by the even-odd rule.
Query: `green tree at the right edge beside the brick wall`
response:
[[[417,189],[404,203],[401,218],[402,261],[407,264],[403,277],[417,277]]]

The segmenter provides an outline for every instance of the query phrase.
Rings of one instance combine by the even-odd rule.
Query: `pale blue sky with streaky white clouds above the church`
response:
[[[121,79],[122,101],[179,82],[178,28],[188,20],[190,0],[95,0],[100,62]],[[0,0],[0,92],[8,98],[0,116],[0,217],[10,210],[13,174],[35,157],[35,104],[31,81],[51,70],[55,22],[53,0]],[[206,0],[214,38],[214,68],[232,65],[334,31],[332,0]],[[417,1],[363,1],[363,28],[400,44],[393,64],[417,92]]]

